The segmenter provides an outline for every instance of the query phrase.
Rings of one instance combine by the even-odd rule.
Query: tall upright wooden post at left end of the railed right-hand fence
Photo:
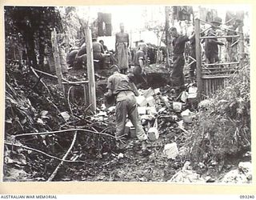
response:
[[[198,85],[198,99],[200,100],[203,93],[202,88],[202,58],[201,58],[201,45],[200,45],[200,20],[194,20],[194,36],[195,36],[195,53],[197,59],[197,85]]]

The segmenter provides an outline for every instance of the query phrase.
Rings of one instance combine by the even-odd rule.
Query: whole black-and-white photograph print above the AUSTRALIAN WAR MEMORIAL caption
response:
[[[252,183],[250,6],[3,18],[2,182]]]

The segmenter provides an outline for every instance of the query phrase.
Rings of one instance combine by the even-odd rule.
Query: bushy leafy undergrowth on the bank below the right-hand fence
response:
[[[222,163],[228,155],[250,150],[250,66],[242,66],[224,90],[218,90],[199,111],[190,143],[194,162]]]

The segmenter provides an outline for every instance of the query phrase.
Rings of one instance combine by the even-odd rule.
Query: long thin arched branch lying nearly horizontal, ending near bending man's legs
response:
[[[18,138],[18,137],[22,137],[22,136],[31,136],[31,135],[61,134],[61,133],[72,132],[72,131],[83,131],[83,132],[88,132],[88,133],[90,133],[90,134],[102,134],[102,135],[109,136],[109,137],[111,137],[111,138],[115,138],[115,137],[114,137],[113,135],[111,135],[111,134],[98,133],[98,132],[95,132],[95,131],[93,131],[93,130],[86,130],[86,129],[55,130],[55,131],[41,132],[41,133],[16,134],[16,135],[14,135],[14,138]]]

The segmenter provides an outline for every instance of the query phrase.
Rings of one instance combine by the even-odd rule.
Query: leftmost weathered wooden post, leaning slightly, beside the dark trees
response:
[[[64,88],[62,86],[62,66],[61,66],[61,60],[59,58],[57,33],[55,29],[51,32],[51,43],[52,43],[53,54],[54,54],[55,72],[58,77],[58,87],[64,93]]]

